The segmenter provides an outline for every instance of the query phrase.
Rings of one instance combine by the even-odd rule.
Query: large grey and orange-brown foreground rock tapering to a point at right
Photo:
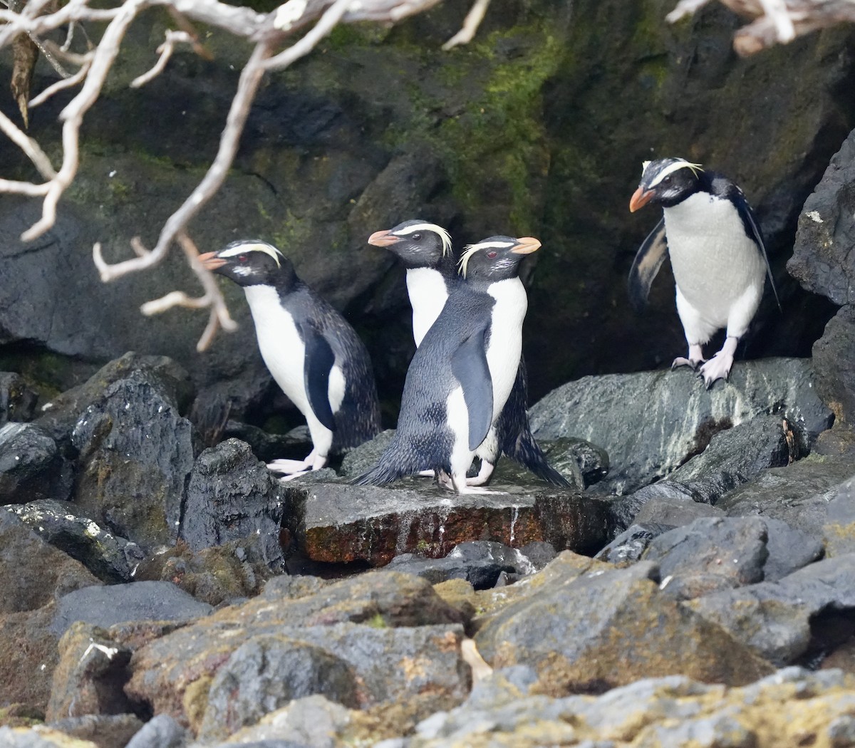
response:
[[[659,592],[650,562],[614,568],[565,552],[540,574],[548,584],[529,585],[484,616],[475,635],[492,667],[534,668],[540,692],[602,692],[667,674],[744,684],[771,672],[721,629]]]

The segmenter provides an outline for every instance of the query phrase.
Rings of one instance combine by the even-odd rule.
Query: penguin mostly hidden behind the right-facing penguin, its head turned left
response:
[[[428,221],[399,223],[391,229],[376,231],[369,244],[386,247],[398,256],[407,270],[407,294],[413,309],[413,338],[416,347],[445,306],[452,290],[463,283],[451,250],[451,235],[445,228]],[[542,480],[555,486],[571,484],[546,461],[528,424],[528,378],[525,360],[520,359],[516,380],[508,401],[495,424],[497,439],[493,449],[479,453],[481,468],[468,478],[469,486],[482,486],[492,475],[501,452],[519,462]],[[428,474],[433,474],[428,472]]]

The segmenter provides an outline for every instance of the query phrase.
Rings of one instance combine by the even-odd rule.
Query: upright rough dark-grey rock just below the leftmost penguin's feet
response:
[[[187,485],[180,537],[192,551],[256,536],[271,569],[284,563],[279,544],[285,491],[250,446],[227,439],[203,451]]]

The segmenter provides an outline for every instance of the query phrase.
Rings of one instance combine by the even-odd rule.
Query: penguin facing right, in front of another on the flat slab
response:
[[[466,282],[451,288],[410,362],[395,436],[356,485],[381,486],[429,469],[458,493],[489,492],[469,485],[466,471],[495,431],[516,379],[528,308],[519,264],[538,249],[537,239],[506,236],[467,248],[460,260]]]

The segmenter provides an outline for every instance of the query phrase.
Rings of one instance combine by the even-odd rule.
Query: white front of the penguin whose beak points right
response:
[[[522,321],[528,309],[528,296],[519,278],[493,283],[489,293],[496,299],[490,342],[486,348],[486,363],[492,380],[492,420],[495,421],[510,395],[520,365]]]

